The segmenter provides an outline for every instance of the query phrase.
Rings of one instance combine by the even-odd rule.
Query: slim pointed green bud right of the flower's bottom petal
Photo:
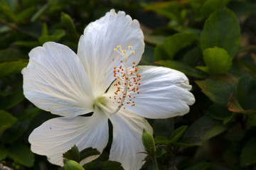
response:
[[[142,142],[143,145],[146,149],[146,152],[148,154],[155,154],[156,153],[156,147],[154,144],[154,139],[152,137],[152,135],[146,131],[145,129],[143,129],[143,133],[142,133]]]

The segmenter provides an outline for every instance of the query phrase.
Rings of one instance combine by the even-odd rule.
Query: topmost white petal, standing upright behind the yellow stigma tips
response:
[[[120,64],[121,55],[114,51],[117,45],[135,51],[128,57],[128,66],[139,63],[144,52],[144,35],[139,22],[124,11],[106,13],[85,28],[78,44],[78,56],[85,66],[95,96],[102,96],[114,80],[113,67]]]

